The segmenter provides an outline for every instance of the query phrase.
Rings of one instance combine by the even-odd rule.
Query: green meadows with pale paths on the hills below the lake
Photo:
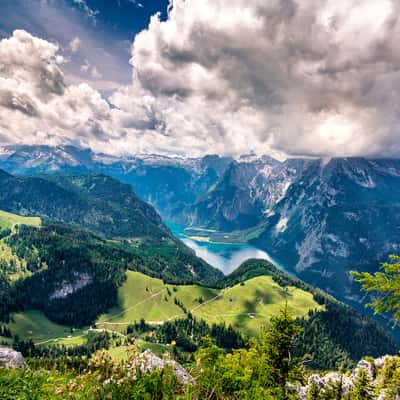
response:
[[[259,276],[223,291],[200,286],[165,285],[161,280],[138,272],[127,272],[127,280],[119,289],[119,306],[102,315],[98,328],[123,331],[127,324],[144,318],[153,323],[184,317],[182,309],[174,303],[179,299],[187,310],[209,323],[227,322],[248,335],[258,335],[271,316],[276,315],[288,301],[296,316],[306,315],[309,309],[321,309],[312,295],[288,287],[287,290],[269,276]],[[168,290],[170,295],[168,296]],[[198,299],[202,297],[203,304]],[[168,301],[166,300],[168,299]],[[13,334],[42,342],[50,338],[67,337],[70,329],[50,322],[42,313],[28,311],[14,315],[10,324]],[[76,331],[73,336],[84,334]],[[66,339],[63,344],[75,344],[79,339]]]

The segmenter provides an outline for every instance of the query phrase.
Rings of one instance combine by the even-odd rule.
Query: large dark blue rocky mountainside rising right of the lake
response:
[[[400,160],[316,160],[254,240],[308,282],[360,301],[349,270],[376,271],[400,252]]]

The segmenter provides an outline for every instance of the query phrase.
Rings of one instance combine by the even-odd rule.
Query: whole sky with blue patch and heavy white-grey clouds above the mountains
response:
[[[0,145],[400,154],[396,0],[0,0]]]

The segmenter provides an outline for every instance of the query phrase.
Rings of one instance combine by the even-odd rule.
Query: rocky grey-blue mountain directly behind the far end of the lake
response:
[[[270,157],[244,160],[232,162],[207,193],[184,209],[187,225],[230,232],[262,223],[307,163]]]

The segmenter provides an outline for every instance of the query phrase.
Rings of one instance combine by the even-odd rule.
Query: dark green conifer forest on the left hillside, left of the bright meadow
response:
[[[57,323],[88,325],[117,304],[117,288],[127,269],[174,283],[219,277],[202,261],[196,266],[199,259],[184,247],[160,245],[150,255],[148,244],[110,241],[69,225],[16,225],[2,242],[14,260],[0,258],[3,320],[12,311],[38,309]],[[15,283],[9,279],[16,271],[12,265],[26,272]]]

